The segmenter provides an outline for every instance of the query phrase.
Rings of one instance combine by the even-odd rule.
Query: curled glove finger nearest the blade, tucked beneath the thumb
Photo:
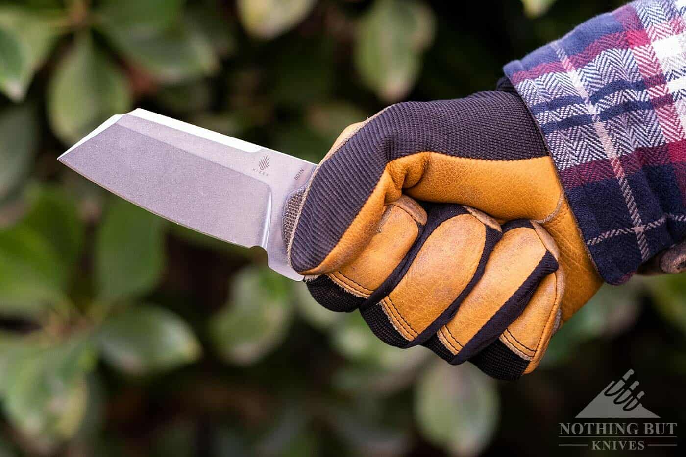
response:
[[[357,309],[405,258],[426,220],[425,210],[410,197],[388,205],[362,254],[337,271],[306,278],[312,297],[332,311]]]

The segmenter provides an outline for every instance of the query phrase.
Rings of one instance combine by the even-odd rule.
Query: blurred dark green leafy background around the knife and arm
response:
[[[549,455],[629,368],[685,423],[683,275],[603,288],[497,383],[55,160],[141,106],[318,161],[348,123],[493,88],[621,3],[0,0],[0,456]]]

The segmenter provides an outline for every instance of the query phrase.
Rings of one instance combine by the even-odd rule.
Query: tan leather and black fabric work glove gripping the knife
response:
[[[351,125],[287,213],[289,261],[320,304],[497,378],[532,371],[602,284],[510,92],[398,103]]]

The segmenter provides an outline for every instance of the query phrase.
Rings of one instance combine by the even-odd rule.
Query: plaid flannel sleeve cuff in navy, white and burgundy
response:
[[[639,0],[510,62],[600,274],[686,235],[686,0]]]

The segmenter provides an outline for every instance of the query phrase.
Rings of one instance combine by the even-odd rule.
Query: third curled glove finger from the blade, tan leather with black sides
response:
[[[506,223],[482,279],[426,346],[452,364],[480,354],[520,316],[539,283],[558,270],[556,258],[552,238],[538,224]]]

